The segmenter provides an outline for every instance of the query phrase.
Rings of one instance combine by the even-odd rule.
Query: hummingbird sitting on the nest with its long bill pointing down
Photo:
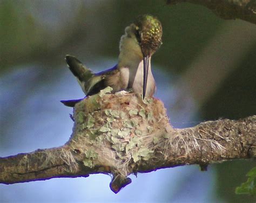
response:
[[[111,93],[126,90],[152,97],[156,82],[151,72],[151,57],[162,44],[163,29],[160,21],[151,15],[140,15],[125,28],[120,39],[118,63],[111,69],[93,73],[76,57],[66,55],[70,71],[77,78],[86,97],[112,87]],[[62,100],[73,107],[82,99]]]

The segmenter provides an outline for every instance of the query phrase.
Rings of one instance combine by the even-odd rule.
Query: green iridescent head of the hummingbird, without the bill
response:
[[[133,24],[143,56],[152,56],[162,44],[163,29],[160,21],[150,15],[141,15],[137,17]]]

